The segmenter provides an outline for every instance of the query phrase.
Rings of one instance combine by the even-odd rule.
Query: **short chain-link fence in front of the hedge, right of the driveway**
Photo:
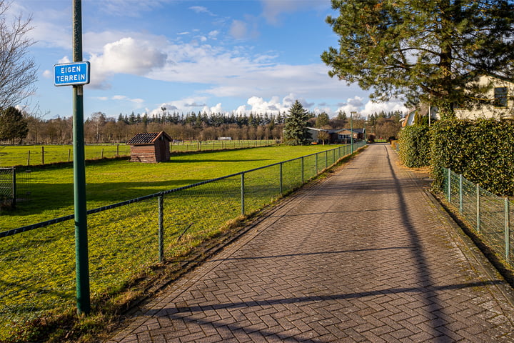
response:
[[[470,223],[471,229],[485,244],[510,267],[513,264],[513,247],[510,244],[513,224],[514,203],[507,197],[498,197],[444,169],[445,199]]]

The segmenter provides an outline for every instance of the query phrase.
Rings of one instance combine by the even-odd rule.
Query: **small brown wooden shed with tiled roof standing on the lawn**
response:
[[[131,161],[144,163],[169,161],[170,141],[171,137],[164,131],[136,134],[127,141],[131,146]]]

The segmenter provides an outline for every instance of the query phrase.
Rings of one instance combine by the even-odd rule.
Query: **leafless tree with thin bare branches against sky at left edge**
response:
[[[10,3],[0,0],[0,109],[16,106],[35,91],[37,68],[29,47],[35,41],[28,37],[33,29],[31,16],[21,14],[8,22]]]

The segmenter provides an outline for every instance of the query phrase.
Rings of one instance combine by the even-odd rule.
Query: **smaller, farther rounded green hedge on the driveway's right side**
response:
[[[430,141],[428,126],[406,126],[400,131],[400,159],[409,168],[430,165]]]

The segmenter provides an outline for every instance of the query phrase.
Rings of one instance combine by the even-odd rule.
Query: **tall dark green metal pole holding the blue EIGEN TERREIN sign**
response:
[[[73,56],[82,61],[82,3],[73,0]],[[79,314],[91,312],[86,207],[86,164],[84,161],[84,91],[73,86],[74,126],[74,202],[76,252],[76,302]]]

